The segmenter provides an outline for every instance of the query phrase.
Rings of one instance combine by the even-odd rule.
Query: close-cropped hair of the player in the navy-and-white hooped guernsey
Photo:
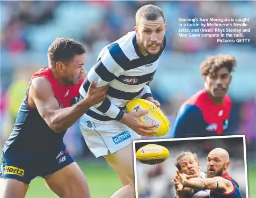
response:
[[[163,17],[164,19],[164,12],[162,9],[156,5],[144,5],[136,12],[136,25],[138,26],[140,24],[139,21],[141,18],[145,18],[147,20],[157,20],[160,17]]]

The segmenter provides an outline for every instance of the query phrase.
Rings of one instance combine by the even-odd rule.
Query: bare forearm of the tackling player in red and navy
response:
[[[61,133],[79,120],[90,107],[91,105],[85,98],[72,107],[58,109],[54,111],[48,125],[56,133]]]

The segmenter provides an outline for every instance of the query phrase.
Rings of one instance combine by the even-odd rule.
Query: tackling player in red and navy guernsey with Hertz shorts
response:
[[[84,63],[85,49],[74,39],[57,38],[49,47],[49,66],[32,76],[2,151],[0,197],[24,198],[31,180],[41,176],[59,197],[90,198],[83,172],[63,143],[67,129],[106,98],[107,86],[93,82],[78,102]]]

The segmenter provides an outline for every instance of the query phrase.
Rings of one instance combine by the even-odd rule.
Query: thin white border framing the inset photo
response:
[[[229,136],[211,136],[211,137],[186,137],[186,138],[166,138],[166,139],[153,139],[153,140],[134,140],[133,141],[133,161],[134,161],[134,179],[135,179],[135,195],[138,198],[138,187],[137,187],[137,167],[136,167],[136,150],[135,143],[139,142],[168,142],[168,141],[182,141],[182,140],[207,140],[207,139],[221,139],[221,138],[233,138],[233,137],[243,137],[244,144],[244,166],[245,166],[245,190],[246,198],[248,195],[248,175],[247,175],[247,161],[246,161],[246,139],[245,135],[229,135]]]

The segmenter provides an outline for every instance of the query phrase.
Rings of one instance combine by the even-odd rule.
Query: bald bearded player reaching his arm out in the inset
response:
[[[210,189],[211,198],[242,198],[238,183],[228,174],[229,165],[229,153],[216,148],[207,157],[207,178],[193,178],[177,171],[174,184],[179,186],[178,192],[184,187]]]

